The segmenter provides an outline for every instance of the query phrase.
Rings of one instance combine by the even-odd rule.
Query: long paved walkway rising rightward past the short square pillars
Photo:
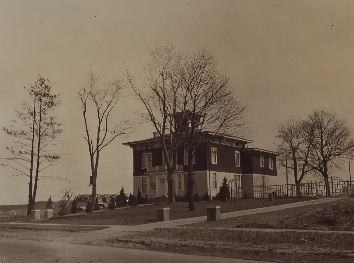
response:
[[[321,204],[325,202],[333,202],[341,199],[346,199],[346,198],[325,198],[325,199],[290,203],[285,205],[277,205],[277,206],[255,208],[255,209],[242,210],[236,212],[229,212],[229,213],[220,214],[220,219],[253,215],[257,213],[265,213],[271,211],[278,211],[278,210],[298,207],[298,206],[315,205],[315,204]],[[201,217],[184,218],[184,219],[177,219],[177,220],[156,222],[156,223],[142,224],[142,225],[74,225],[74,224],[70,225],[70,224],[39,224],[39,223],[19,222],[19,223],[0,223],[0,228],[3,227],[3,228],[24,228],[24,229],[53,229],[53,230],[73,230],[76,228],[76,231],[101,230],[101,229],[102,229],[101,231],[148,231],[154,228],[176,227],[178,225],[194,224],[194,223],[204,222],[206,220],[207,220],[206,216],[201,216]]]

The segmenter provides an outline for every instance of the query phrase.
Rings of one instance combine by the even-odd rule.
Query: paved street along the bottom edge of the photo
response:
[[[137,249],[74,245],[58,242],[0,239],[0,263],[134,263],[134,262],[196,262],[256,263],[221,257],[193,256]],[[269,263],[269,262],[268,262]]]

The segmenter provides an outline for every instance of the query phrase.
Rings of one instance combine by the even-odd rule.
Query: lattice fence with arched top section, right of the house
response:
[[[270,193],[278,197],[296,197],[295,184],[237,187],[230,189],[231,199],[268,198]],[[317,183],[300,184],[303,197],[345,197],[354,194],[354,181],[343,181],[338,177],[328,177]]]

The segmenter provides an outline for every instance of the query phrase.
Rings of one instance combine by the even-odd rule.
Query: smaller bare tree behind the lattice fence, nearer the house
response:
[[[303,137],[305,134],[306,139]],[[293,170],[298,197],[301,196],[300,184],[304,175],[314,170],[308,164],[313,136],[314,126],[302,119],[294,119],[294,116],[276,126],[276,138],[279,140],[277,148],[282,153],[280,164]]]

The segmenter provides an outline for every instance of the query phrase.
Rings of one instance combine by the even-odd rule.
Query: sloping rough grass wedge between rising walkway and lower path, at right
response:
[[[196,223],[191,226],[354,231],[354,198]]]

